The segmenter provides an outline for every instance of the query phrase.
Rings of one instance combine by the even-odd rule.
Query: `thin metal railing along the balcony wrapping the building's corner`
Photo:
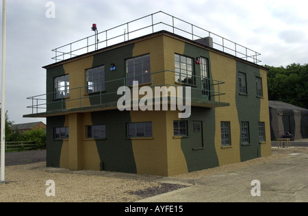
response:
[[[140,84],[138,86],[138,92],[143,86],[149,86],[153,93],[155,91],[155,87],[166,86],[168,88],[169,86],[190,86],[192,103],[196,102],[203,105],[205,104],[205,106],[207,103],[211,105],[216,103],[216,105],[218,104],[217,106],[219,106],[220,103],[223,104],[222,101],[220,101],[220,96],[225,95],[225,93],[221,92],[220,86],[224,84],[224,82],[193,75],[191,77],[193,80],[192,84],[183,84],[183,82],[176,82],[175,77],[179,77],[179,80],[185,80],[187,75],[175,71],[159,71],[151,73],[150,75],[151,82]],[[140,76],[136,76],[135,78]],[[169,82],[172,84],[164,84],[165,80],[162,81],[162,76],[169,78],[173,77],[173,82]],[[104,82],[106,90],[99,91],[97,93],[86,93],[88,86],[79,86],[77,88],[70,88],[68,97],[55,99],[55,92],[28,97],[27,99],[31,100],[31,106],[27,106],[27,108],[31,108],[31,115],[36,115],[48,112],[63,112],[72,109],[87,110],[94,107],[114,107],[116,106],[118,99],[123,96],[117,94],[118,88],[120,86],[127,86],[127,80],[129,79],[131,78],[125,77],[117,80],[106,81]],[[205,88],[205,86],[207,87]],[[130,86],[130,88],[131,87],[132,86]],[[183,96],[185,96],[185,88],[183,91]],[[185,100],[185,97],[183,97],[183,99]]]

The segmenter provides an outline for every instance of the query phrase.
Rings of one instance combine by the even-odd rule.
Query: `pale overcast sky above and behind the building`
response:
[[[26,98],[45,93],[42,67],[55,62],[51,50],[91,36],[92,23],[103,32],[161,10],[261,53],[259,64],[308,63],[308,1],[304,0],[54,0],[54,18],[46,16],[51,9],[47,2],[7,3],[5,104],[15,123],[45,122],[23,118],[31,113]]]

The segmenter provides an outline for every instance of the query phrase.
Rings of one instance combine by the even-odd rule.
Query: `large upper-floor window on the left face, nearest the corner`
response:
[[[139,84],[151,82],[150,54],[130,58],[126,60],[127,85],[133,85],[133,81]]]

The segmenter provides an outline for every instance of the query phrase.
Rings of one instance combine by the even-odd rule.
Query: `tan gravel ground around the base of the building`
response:
[[[251,165],[267,163],[289,156],[292,153],[308,153],[308,147],[290,149],[272,148],[272,156],[256,158],[243,163],[224,165],[213,169],[195,171],[179,176],[181,179],[196,179],[224,171],[232,171]],[[5,168],[5,184],[0,184],[0,202],[134,202],[188,187],[181,184],[168,184],[133,178],[92,176],[81,173],[52,172],[42,169],[45,163],[15,165]],[[55,196],[45,193],[49,185],[47,180],[55,182]]]

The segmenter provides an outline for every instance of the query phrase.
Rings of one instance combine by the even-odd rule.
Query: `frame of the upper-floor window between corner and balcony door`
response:
[[[179,60],[177,60],[177,56],[179,56],[178,58]],[[184,59],[185,59],[185,62],[182,61]],[[188,59],[191,61],[191,64],[188,64]],[[189,70],[190,67],[188,65],[190,65],[191,70]],[[189,73],[191,73],[191,75],[189,75]],[[181,81],[179,80],[180,74],[181,74]],[[185,77],[184,79],[183,79],[183,76]],[[191,83],[189,82],[189,76],[191,77]],[[190,58],[188,56],[183,56],[183,55],[175,53],[175,82],[181,83],[181,84],[195,85],[196,80],[194,76],[195,76],[194,58]],[[183,82],[184,80],[186,81]]]

